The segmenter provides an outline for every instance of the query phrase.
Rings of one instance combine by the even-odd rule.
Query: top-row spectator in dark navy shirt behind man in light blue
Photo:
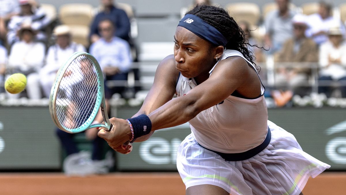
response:
[[[102,11],[99,12],[90,26],[90,41],[94,43],[100,39],[100,31],[98,26],[103,19],[109,19],[112,21],[113,25],[116,27],[114,35],[124,39],[126,41],[130,40],[130,20],[126,15],[126,12],[122,9],[115,7],[113,0],[101,0]]]

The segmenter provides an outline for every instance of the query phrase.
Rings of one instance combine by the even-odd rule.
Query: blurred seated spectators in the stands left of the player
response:
[[[8,98],[48,98],[58,69],[74,52],[95,56],[106,81],[127,80],[136,61],[131,17],[131,6],[113,0],[100,0],[97,8],[67,3],[58,13],[53,5],[35,0],[0,0],[0,93],[9,75],[22,73],[27,76],[26,91],[6,92]],[[107,88],[112,94],[124,90],[118,85]]]

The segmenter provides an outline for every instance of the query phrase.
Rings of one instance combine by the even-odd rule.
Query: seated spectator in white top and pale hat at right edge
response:
[[[331,27],[328,31],[329,40],[320,46],[319,51],[319,93],[330,97],[333,87],[324,81],[346,80],[346,44],[343,41],[343,32],[340,27]],[[326,86],[327,85],[327,86]],[[341,86],[340,91],[346,97],[346,86]]]

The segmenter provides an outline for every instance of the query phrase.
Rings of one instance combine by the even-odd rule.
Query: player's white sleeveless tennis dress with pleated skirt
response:
[[[246,60],[235,50],[225,50],[220,60],[232,56]],[[193,78],[180,75],[177,96],[196,85]],[[191,134],[177,153],[186,188],[210,184],[232,195],[298,195],[310,176],[330,167],[303,152],[292,134],[267,120],[264,87],[258,87],[261,96],[255,99],[230,95],[189,121]]]

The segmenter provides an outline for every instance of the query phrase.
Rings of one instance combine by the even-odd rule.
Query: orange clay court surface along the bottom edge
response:
[[[345,195],[346,172],[325,172],[309,179],[304,195]],[[185,186],[176,172],[110,173],[66,177],[63,173],[0,173],[1,195],[112,194],[180,195]]]

